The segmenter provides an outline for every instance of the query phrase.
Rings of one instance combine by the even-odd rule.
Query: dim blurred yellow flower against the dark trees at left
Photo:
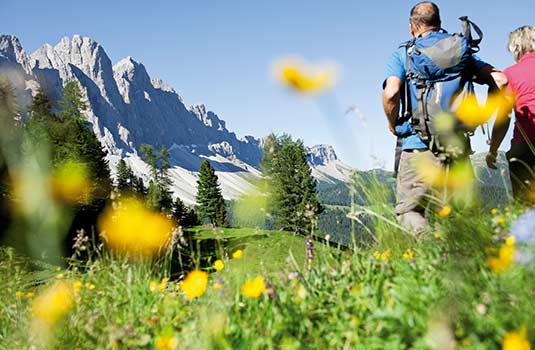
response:
[[[89,170],[83,163],[67,161],[60,165],[50,180],[52,195],[67,203],[87,202],[91,197]]]

